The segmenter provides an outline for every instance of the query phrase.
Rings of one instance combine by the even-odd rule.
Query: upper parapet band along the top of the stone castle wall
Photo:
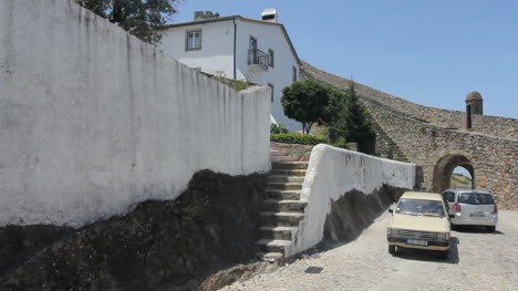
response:
[[[310,75],[324,83],[333,85],[339,89],[348,89],[350,80],[327,73],[318,70],[317,67],[303,62],[303,73]],[[355,83],[355,89],[364,98],[374,100],[381,104],[390,106],[391,108],[400,112],[403,115],[408,115],[422,122],[435,124],[437,126],[447,128],[463,129],[466,127],[466,113],[460,111],[449,111],[436,107],[423,106],[372,87]],[[463,102],[464,97],[459,96],[458,102]],[[480,132],[488,135],[518,138],[518,119],[506,118],[488,115],[474,115],[473,132]]]

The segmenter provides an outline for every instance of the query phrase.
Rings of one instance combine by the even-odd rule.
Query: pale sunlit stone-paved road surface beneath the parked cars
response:
[[[447,261],[422,250],[388,254],[388,221],[384,214],[350,243],[221,290],[518,290],[518,211],[499,211],[495,233],[476,227],[452,231]],[[323,269],[304,272],[309,267]]]

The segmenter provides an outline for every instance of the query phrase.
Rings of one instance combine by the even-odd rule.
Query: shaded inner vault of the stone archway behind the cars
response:
[[[442,193],[449,188],[452,173],[456,167],[463,167],[472,175],[472,188],[475,188],[475,169],[472,162],[464,155],[446,155],[437,162],[434,168],[433,191]]]

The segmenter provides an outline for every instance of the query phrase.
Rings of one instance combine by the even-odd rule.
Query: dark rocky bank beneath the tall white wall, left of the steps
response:
[[[0,229],[7,233],[2,243],[21,250],[2,259],[0,290],[183,289],[209,270],[253,258],[266,184],[266,175],[203,170],[174,201],[145,201],[71,235],[70,229],[22,227],[28,237],[51,237],[31,258],[25,240]]]

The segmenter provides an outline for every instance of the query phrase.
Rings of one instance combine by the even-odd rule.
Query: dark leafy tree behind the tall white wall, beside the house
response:
[[[156,31],[164,28],[177,12],[175,4],[179,1],[182,0],[75,0],[80,6],[148,43],[160,40]]]

